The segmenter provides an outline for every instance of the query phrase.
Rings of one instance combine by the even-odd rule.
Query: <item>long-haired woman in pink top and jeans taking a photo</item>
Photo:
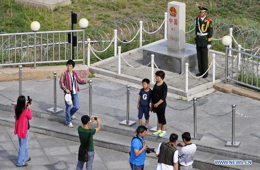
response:
[[[25,99],[25,96],[19,96],[17,99],[17,105],[14,106],[15,112],[15,127],[14,127],[14,134],[17,134],[19,140],[19,152],[18,158],[16,162],[16,166],[27,166],[28,164],[25,163],[31,158],[28,156],[27,144],[28,144],[28,137],[29,137],[29,119],[32,118],[31,114],[31,107],[32,104],[30,103],[28,109],[26,107],[28,100]]]

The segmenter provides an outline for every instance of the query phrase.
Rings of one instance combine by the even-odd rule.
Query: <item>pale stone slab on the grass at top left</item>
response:
[[[52,11],[58,6],[71,5],[70,0],[15,0],[14,2],[19,4],[26,4],[34,8],[44,7]]]

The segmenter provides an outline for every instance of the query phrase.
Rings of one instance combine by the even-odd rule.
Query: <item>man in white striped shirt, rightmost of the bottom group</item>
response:
[[[185,145],[178,143],[178,146],[182,148],[179,150],[179,170],[192,170],[192,163],[196,152],[196,145],[190,141],[190,133],[184,132],[182,135],[182,141]]]

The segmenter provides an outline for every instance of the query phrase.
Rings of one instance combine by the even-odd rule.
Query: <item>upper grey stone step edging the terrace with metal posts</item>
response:
[[[5,105],[5,104],[0,104],[0,112],[2,111],[10,111],[10,114],[13,113],[13,106],[10,105]],[[40,112],[40,111],[33,111],[33,116],[41,119],[46,119],[46,120],[51,120],[55,122],[59,122],[64,124],[66,121],[65,116],[61,115],[55,115],[52,113],[47,113],[47,112]],[[10,116],[10,115],[9,115]],[[133,137],[135,133],[136,127],[126,127],[126,126],[121,126],[119,125],[120,121],[117,119],[107,119],[105,121],[101,122],[101,129],[104,132],[112,132],[115,134],[119,134],[122,136],[127,136],[127,137]],[[73,120],[73,125],[75,126],[81,126],[81,120],[79,117],[76,117],[76,119]],[[138,125],[137,125],[138,126]],[[93,124],[90,124],[90,128],[96,127],[95,122]],[[167,134],[171,133],[177,133],[177,134],[182,134],[183,132],[179,130],[167,130]],[[160,138],[157,136],[152,135],[151,132],[147,132],[147,135],[145,137],[146,141],[153,141],[153,142],[168,142],[169,136],[167,135],[166,137]],[[181,141],[181,136],[179,136],[179,141]],[[224,145],[218,145],[220,141],[219,139],[214,139],[212,137],[207,137],[204,135],[203,140],[201,141],[192,141],[197,145],[197,150],[201,152],[206,152],[206,153],[211,153],[211,154],[217,154],[221,156],[227,156],[230,158],[236,158],[240,160],[252,160],[253,162],[260,163],[260,156],[259,155],[253,155],[253,154],[248,154],[249,152],[246,152],[247,150],[244,150],[242,146],[239,148],[229,148],[229,147],[224,147]],[[215,145],[211,145],[214,143]]]

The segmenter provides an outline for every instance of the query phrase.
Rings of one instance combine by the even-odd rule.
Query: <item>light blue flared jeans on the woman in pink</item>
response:
[[[19,152],[18,152],[18,158],[16,165],[17,166],[23,166],[27,160],[29,160],[28,156],[28,150],[27,150],[27,144],[28,144],[28,138],[29,138],[29,129],[27,130],[26,138],[19,138]]]

